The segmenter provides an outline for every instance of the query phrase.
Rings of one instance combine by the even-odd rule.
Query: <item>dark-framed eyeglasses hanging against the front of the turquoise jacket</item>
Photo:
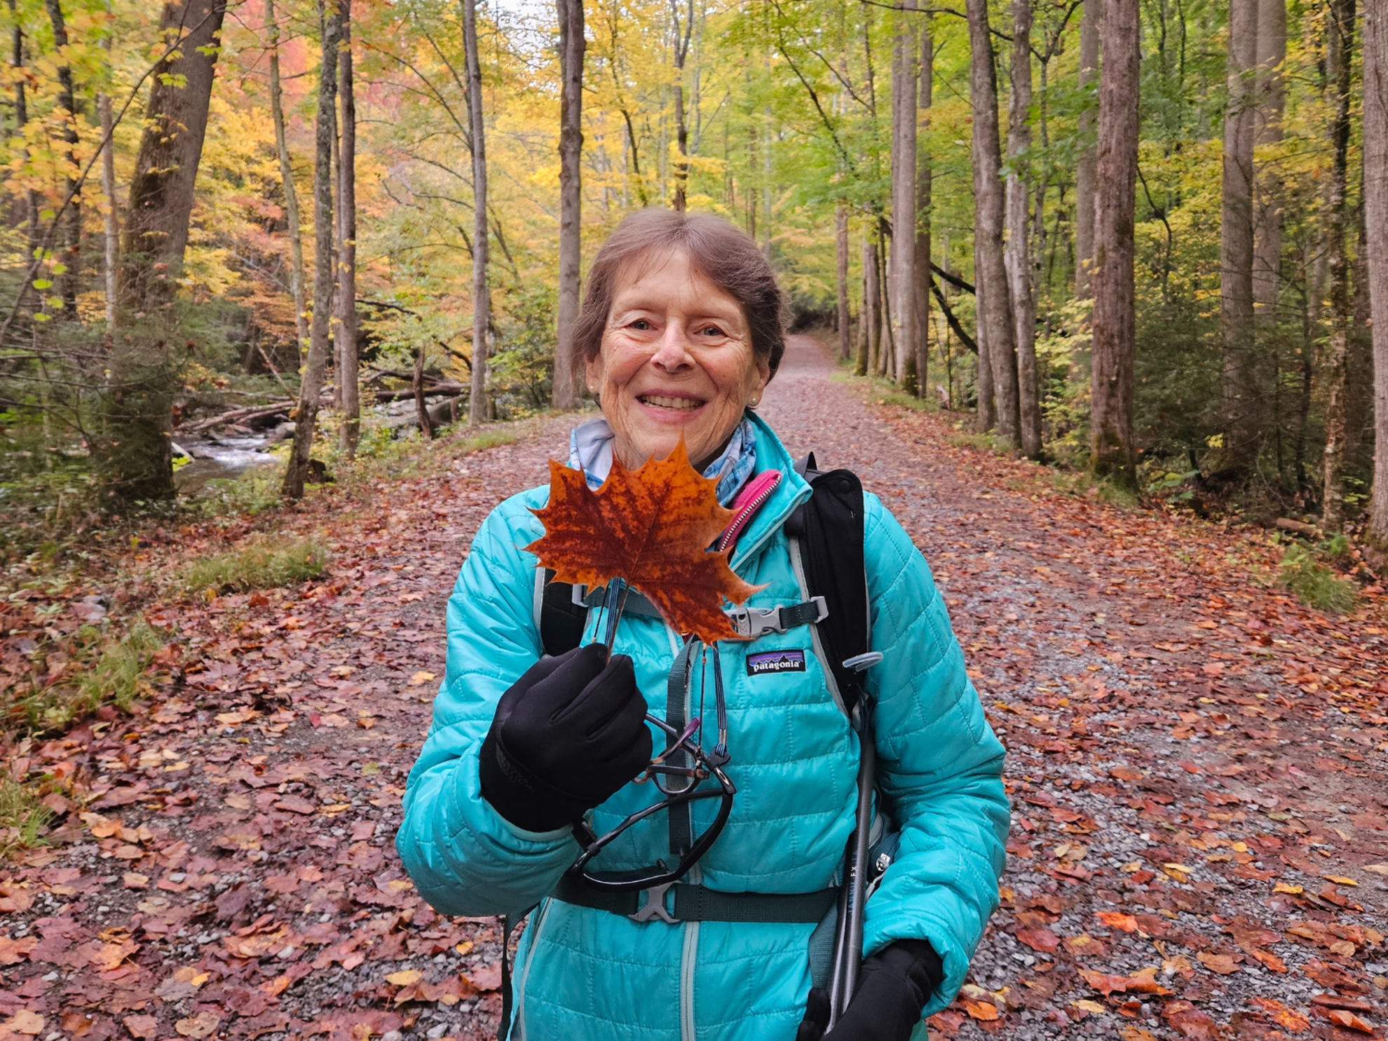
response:
[[[622,600],[625,601],[625,593]],[[616,629],[615,616],[618,613],[620,613],[620,608],[612,612],[608,618],[609,647],[611,634]],[[693,657],[698,647],[698,640],[690,637],[686,641],[682,654],[688,655],[693,662]],[[658,802],[652,802],[650,806],[638,809],[636,813],[632,813],[620,824],[604,836],[598,836],[587,820],[577,822],[573,826],[573,837],[579,841],[579,845],[583,847],[583,852],[579,855],[579,859],[573,862],[573,866],[569,867],[569,876],[582,877],[589,886],[608,891],[647,890],[658,886],[668,886],[682,879],[690,867],[693,867],[700,858],[709,851],[713,843],[718,841],[718,837],[723,831],[723,826],[727,824],[729,815],[733,812],[733,795],[737,794],[737,786],[733,784],[731,779],[723,770],[731,756],[727,754],[727,702],[723,697],[723,670],[719,666],[716,644],[704,648],[701,661],[706,663],[708,658],[712,658],[713,666],[713,702],[718,720],[718,743],[713,745],[712,751],[704,751],[700,740],[704,730],[702,711],[698,716],[690,719],[683,730],[679,730],[670,726],[666,720],[657,719],[647,712],[645,720],[665,734],[665,751],[651,761],[651,765],[647,766],[641,776],[636,779],[636,783],[645,784],[650,781],[655,784],[665,798]],[[693,672],[693,669],[690,672]],[[716,781],[718,787],[702,787],[708,780]],[[687,806],[688,804],[713,798],[722,799],[718,813],[713,816],[713,822],[690,844],[688,849],[680,855],[675,867],[670,867],[663,859],[658,859],[655,865],[650,867],[638,867],[636,870],[589,870],[587,866],[594,856],[611,845],[618,836],[647,818],[659,813],[662,809],[676,811]]]

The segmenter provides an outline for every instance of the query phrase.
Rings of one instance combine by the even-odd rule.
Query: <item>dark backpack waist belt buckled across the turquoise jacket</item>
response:
[[[676,883],[668,890],[666,916],[675,922],[766,922],[819,923],[838,902],[838,890],[818,892],[720,892],[704,886]],[[608,911],[613,915],[636,917],[648,902],[645,890],[598,890],[565,876],[554,891],[554,898],[580,908]],[[647,920],[665,916],[650,915]]]

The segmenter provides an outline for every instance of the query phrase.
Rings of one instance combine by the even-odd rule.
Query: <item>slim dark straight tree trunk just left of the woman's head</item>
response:
[[[554,350],[555,408],[573,408],[579,393],[573,323],[579,321],[583,158],[583,0],[558,0],[559,12],[559,308]]]

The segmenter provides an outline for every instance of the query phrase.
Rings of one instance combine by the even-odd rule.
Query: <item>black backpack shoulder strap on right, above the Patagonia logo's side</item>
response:
[[[844,668],[844,662],[866,654],[870,641],[863,486],[852,471],[816,471],[813,452],[795,469],[809,482],[812,494],[786,522],[786,532],[799,544],[806,591],[823,597],[829,608],[816,627],[844,711],[852,715],[862,675]]]

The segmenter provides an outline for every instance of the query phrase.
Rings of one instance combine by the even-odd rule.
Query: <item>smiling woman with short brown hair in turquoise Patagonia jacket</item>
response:
[[[633,469],[683,437],[722,502],[755,483],[762,501],[730,555],[763,587],[754,608],[805,600],[784,526],[811,487],[754,411],[784,351],[783,315],[775,275],[741,232],[709,215],[647,210],[598,251],[577,328],[602,416],[573,430],[569,465],[595,487],[613,459]],[[720,641],[718,657],[682,673],[688,644],[659,616],[622,615],[609,657],[598,625],[611,612],[593,609],[584,645],[547,657],[544,575],[522,548],[543,533],[532,509],[547,496],[539,487],[507,500],[473,540],[448,601],[447,673],[396,840],[419,892],[444,913],[536,908],[516,954],[511,1037],[923,1038],[923,1016],[954,997],[997,906],[1008,805],[1004,750],[911,539],[865,497],[870,640],[884,655],[865,688],[876,701],[879,799],[899,844],[866,902],[856,992],[824,1034],[809,949],[823,906],[758,909],[831,890],[854,830],[858,734],[816,657],[813,623]],[[750,655],[768,648],[786,650],[790,668],[754,669]],[[632,784],[651,762],[644,715],[698,715],[698,701],[669,693],[688,687],[726,700],[726,773],[737,788],[726,826],[676,886],[688,898],[652,886],[623,901],[575,881],[576,833],[611,830],[659,798]],[[668,869],[718,808],[704,799],[652,813],[590,866],[607,877]]]

